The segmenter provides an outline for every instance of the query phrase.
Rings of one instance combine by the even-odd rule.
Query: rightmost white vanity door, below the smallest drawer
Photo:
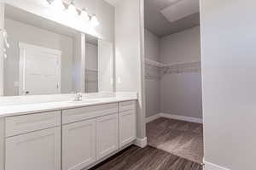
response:
[[[119,146],[131,143],[136,139],[136,111],[121,111],[119,113]]]

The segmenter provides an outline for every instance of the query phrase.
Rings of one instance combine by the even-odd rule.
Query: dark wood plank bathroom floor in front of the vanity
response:
[[[200,164],[151,146],[132,145],[90,170],[202,170]]]

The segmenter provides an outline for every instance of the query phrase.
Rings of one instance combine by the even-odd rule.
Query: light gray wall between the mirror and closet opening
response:
[[[118,1],[115,8],[116,91],[137,92],[137,138],[145,139],[143,0]]]

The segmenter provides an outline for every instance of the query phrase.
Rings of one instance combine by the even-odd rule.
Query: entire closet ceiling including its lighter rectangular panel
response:
[[[159,37],[200,25],[199,0],[144,0],[145,27]]]

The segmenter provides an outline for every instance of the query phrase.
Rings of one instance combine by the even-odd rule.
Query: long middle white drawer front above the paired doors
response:
[[[118,104],[94,105],[62,111],[62,123],[79,122],[97,116],[105,116],[118,112]]]

